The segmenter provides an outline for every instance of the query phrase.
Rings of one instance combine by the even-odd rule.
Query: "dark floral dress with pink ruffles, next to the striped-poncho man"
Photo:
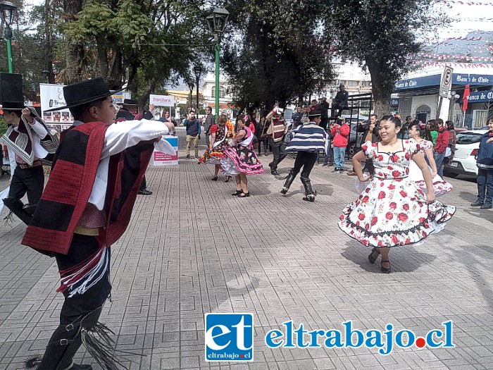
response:
[[[246,175],[255,175],[257,173],[263,173],[263,166],[258,160],[254,147],[251,144],[254,133],[247,128],[239,128],[237,135],[242,130],[245,131],[244,140],[242,142],[248,144],[242,144],[239,142],[233,147],[225,150],[225,159],[221,159],[221,166],[226,175],[238,175],[239,173],[246,173]]]

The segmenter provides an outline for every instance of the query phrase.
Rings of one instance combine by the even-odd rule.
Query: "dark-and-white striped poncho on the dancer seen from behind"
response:
[[[316,123],[298,126],[290,135],[293,135],[293,138],[287,144],[286,152],[328,152],[327,132]]]

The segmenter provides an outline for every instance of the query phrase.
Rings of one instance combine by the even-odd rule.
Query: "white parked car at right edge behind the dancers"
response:
[[[488,130],[470,130],[457,133],[456,152],[454,160],[444,167],[445,175],[456,177],[457,175],[478,175],[476,158],[480,149],[482,135]]]

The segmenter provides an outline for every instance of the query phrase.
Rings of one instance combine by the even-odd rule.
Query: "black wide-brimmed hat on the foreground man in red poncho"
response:
[[[92,101],[109,97],[110,95],[122,90],[123,89],[110,91],[108,84],[106,84],[101,77],[77,82],[73,85],[63,87],[63,97],[65,98],[65,103],[67,105],[57,106],[56,108],[49,109],[45,112],[59,111],[60,109],[67,109],[72,108],[73,106],[88,104]]]

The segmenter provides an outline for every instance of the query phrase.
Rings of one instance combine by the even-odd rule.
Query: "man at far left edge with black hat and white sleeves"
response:
[[[4,101],[4,121],[9,125],[0,138],[11,158],[11,185],[4,204],[21,221],[28,224],[44,186],[41,159],[54,154],[58,138],[51,135],[34,108],[20,101]],[[28,204],[20,200],[27,193]]]

